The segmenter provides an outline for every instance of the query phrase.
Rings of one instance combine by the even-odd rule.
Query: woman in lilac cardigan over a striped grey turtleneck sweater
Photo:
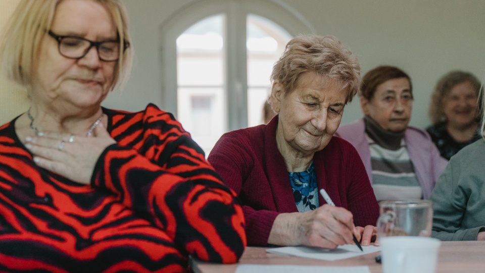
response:
[[[411,78],[397,67],[379,66],[364,75],[359,95],[364,117],[335,135],[359,152],[376,199],[428,199],[447,161],[424,130],[408,126]]]

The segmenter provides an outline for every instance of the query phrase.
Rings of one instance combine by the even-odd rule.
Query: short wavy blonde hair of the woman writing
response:
[[[346,103],[359,90],[359,60],[334,36],[302,35],[290,40],[273,66],[271,80],[277,80],[288,95],[305,72],[315,72],[340,83],[342,89],[349,90]]]

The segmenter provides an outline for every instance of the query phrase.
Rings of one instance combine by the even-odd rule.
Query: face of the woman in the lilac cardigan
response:
[[[375,90],[369,101],[361,97],[361,107],[383,129],[400,132],[406,129],[411,119],[412,96],[407,78],[384,81]]]

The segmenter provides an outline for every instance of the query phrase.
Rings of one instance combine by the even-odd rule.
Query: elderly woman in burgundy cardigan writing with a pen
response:
[[[209,162],[243,202],[248,244],[335,248],[353,235],[370,244],[378,206],[369,179],[355,148],[332,138],[359,73],[334,37],[292,39],[271,75],[277,116],[224,134],[211,151]]]

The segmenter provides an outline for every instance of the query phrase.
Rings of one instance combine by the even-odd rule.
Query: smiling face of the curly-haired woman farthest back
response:
[[[465,81],[455,85],[445,97],[443,112],[449,125],[460,128],[475,122],[477,95],[473,85]]]

